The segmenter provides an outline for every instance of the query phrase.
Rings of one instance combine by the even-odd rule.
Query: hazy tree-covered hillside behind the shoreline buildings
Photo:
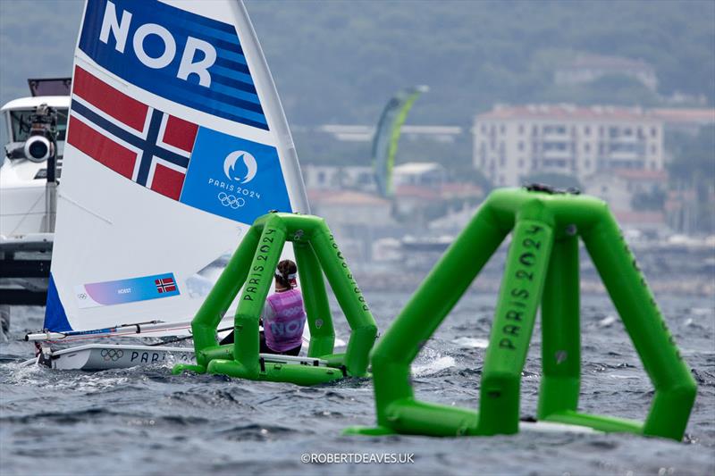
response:
[[[467,124],[496,102],[659,104],[715,98],[715,2],[249,1],[289,120],[375,121],[396,89],[427,84],[411,122]],[[577,53],[651,63],[658,94],[627,78],[556,88]]]

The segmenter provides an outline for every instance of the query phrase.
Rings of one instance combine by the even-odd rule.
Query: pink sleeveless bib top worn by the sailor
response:
[[[300,291],[293,288],[274,293],[266,301],[273,315],[264,316],[265,345],[276,352],[285,352],[302,344],[306,312]]]

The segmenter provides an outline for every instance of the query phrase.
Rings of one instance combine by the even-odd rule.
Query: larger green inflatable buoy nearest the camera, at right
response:
[[[479,412],[417,400],[410,363],[512,232]],[[578,238],[593,259],[655,393],[645,422],[579,413]],[[468,265],[467,265],[468,263]],[[348,434],[513,434],[536,311],[542,310],[543,380],[538,420],[680,440],[696,385],[608,206],[551,188],[492,192],[374,348],[376,428]]]

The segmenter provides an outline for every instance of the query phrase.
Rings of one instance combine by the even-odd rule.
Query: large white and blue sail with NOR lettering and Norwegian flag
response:
[[[243,4],[89,0],[46,329],[190,320],[222,260],[271,210],[309,213]]]

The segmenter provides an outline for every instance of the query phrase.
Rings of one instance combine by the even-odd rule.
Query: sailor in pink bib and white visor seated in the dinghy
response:
[[[275,271],[275,292],[265,299],[263,328],[260,332],[262,354],[299,355],[303,345],[306,311],[297,286],[298,267],[282,260]],[[221,344],[232,344],[233,332]]]

